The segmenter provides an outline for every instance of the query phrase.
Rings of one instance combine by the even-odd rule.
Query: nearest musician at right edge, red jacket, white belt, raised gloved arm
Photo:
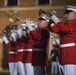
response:
[[[66,23],[62,23],[56,15],[51,16],[55,25],[50,29],[60,34],[60,63],[63,65],[64,75],[76,74],[76,7],[66,6]]]

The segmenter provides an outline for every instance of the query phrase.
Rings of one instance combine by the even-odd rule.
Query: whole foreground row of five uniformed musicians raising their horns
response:
[[[40,14],[40,13],[39,13]],[[64,15],[66,23],[60,21],[56,12],[41,11],[38,22],[19,20],[25,24],[10,30],[8,37],[3,34],[3,42],[9,47],[8,62],[10,75],[46,75],[48,57],[46,48],[49,42],[49,31],[60,35],[59,65],[64,75],[76,74],[76,7],[66,6]]]

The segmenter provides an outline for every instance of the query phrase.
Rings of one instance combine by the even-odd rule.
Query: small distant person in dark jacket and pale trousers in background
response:
[[[53,49],[51,50],[51,74],[57,74],[58,73],[58,45],[56,41],[53,41]]]

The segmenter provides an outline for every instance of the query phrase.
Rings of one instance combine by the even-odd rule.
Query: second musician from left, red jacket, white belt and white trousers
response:
[[[15,41],[16,47],[17,47],[17,55],[16,55],[17,67],[20,75],[25,75],[24,64],[22,63],[25,45],[24,45],[23,36],[22,36],[22,29],[19,27],[17,30],[17,36],[18,37],[16,38],[16,41]]]

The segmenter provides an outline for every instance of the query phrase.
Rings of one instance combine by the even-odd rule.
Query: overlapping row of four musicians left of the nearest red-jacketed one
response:
[[[16,20],[25,24],[10,30],[8,37],[3,34],[3,41],[9,47],[10,75],[17,75],[17,69],[20,75],[45,75],[45,67],[48,65],[48,17],[42,15],[38,23],[29,19]]]

